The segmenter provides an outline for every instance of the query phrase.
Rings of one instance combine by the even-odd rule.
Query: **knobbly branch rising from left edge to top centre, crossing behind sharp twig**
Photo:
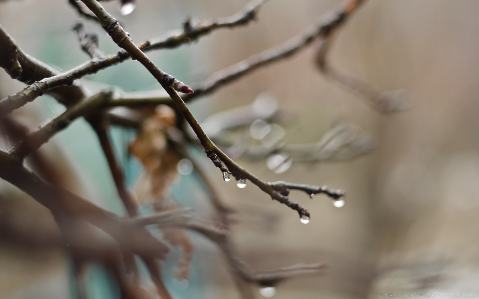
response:
[[[75,2],[75,5],[79,4],[75,0],[71,0],[71,1]],[[211,31],[215,29],[225,28],[225,27],[231,28],[234,26],[245,25],[249,21],[255,18],[256,13],[260,9],[262,3],[264,2],[255,1],[249,4],[243,12],[240,12],[239,14],[236,14],[229,18],[218,19],[217,21],[204,21],[194,26],[191,26],[191,24],[188,26],[185,25],[185,28],[180,33],[177,31],[167,33],[165,37],[153,42],[147,41],[143,44],[140,44],[138,48],[140,48],[143,51],[149,51],[153,49],[177,47],[179,45],[184,44],[186,38],[193,40],[193,39],[199,38],[202,35],[210,33]],[[187,22],[187,24],[189,24],[189,22]],[[2,36],[2,34],[4,34],[5,36]],[[6,45],[13,44],[15,46],[15,49],[18,48],[18,46],[16,46],[16,44],[8,35],[8,33],[6,33],[4,29],[0,26],[0,45],[3,45],[3,44],[6,44]],[[10,55],[10,53],[13,53],[14,52],[13,50],[15,49],[12,49],[11,51],[9,51],[8,54]],[[18,48],[18,50],[21,51],[20,48]],[[5,55],[3,57],[8,57],[8,56]],[[56,70],[50,70],[50,74],[46,76],[37,76],[35,77],[35,79],[33,80],[30,79],[27,82],[19,79],[22,82],[25,82],[28,84],[34,81],[36,82],[26,87],[25,89],[23,89],[21,92],[1,100],[0,108],[4,112],[6,111],[6,113],[10,113],[11,111],[22,107],[26,103],[35,100],[37,97],[43,95],[49,90],[56,89],[62,86],[70,86],[73,84],[73,81],[76,79],[80,79],[86,75],[96,73],[99,70],[104,69],[108,66],[113,66],[119,62],[123,62],[130,57],[131,56],[127,51],[122,50],[116,53],[115,55],[101,57],[101,59],[100,57],[97,57],[98,59],[93,59],[89,62],[86,62],[64,73],[59,73]],[[34,58],[32,59],[36,61]],[[36,62],[39,63],[38,61]],[[16,75],[16,73],[19,72],[18,68],[14,69],[9,64],[2,64],[0,66],[4,67],[7,71],[10,70],[12,74],[14,75]],[[18,76],[17,77],[13,76],[12,78],[18,78]],[[173,87],[175,87],[177,91],[186,92],[186,93],[190,92],[190,90],[187,89],[187,86],[185,86],[184,84],[182,84],[182,82],[179,82],[177,80],[171,82],[171,85],[173,85]],[[63,89],[68,89],[68,87],[64,87]],[[77,99],[73,99],[70,101],[70,103],[74,103],[76,102],[76,100]]]

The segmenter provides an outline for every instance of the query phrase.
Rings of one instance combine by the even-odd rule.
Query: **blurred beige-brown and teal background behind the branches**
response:
[[[338,0],[270,0],[258,21],[218,30],[190,45],[148,53],[157,65],[191,84],[255,53],[282,44],[331,10]],[[128,16],[117,3],[105,8],[137,43],[198,20],[232,15],[244,0],[138,0]],[[293,161],[282,174],[266,163],[239,159],[265,181],[285,180],[347,190],[344,207],[331,199],[293,192],[291,199],[311,212],[305,225],[297,214],[251,184],[239,189],[205,169],[222,199],[238,210],[232,236],[239,254],[258,269],[327,262],[329,272],[287,280],[274,298],[478,298],[479,286],[479,2],[476,0],[369,0],[342,27],[330,52],[338,68],[380,89],[405,89],[411,108],[384,115],[371,109],[317,70],[314,50],[263,67],[250,76],[191,104],[194,115],[208,115],[252,103],[267,92],[297,116],[284,127],[290,143],[316,142],[338,121],[351,122],[374,135],[377,147],[352,160],[325,163]],[[100,49],[118,48],[96,24],[84,21],[67,1],[19,0],[0,3],[0,23],[28,54],[60,69],[86,61],[71,27],[78,21],[100,36]],[[159,89],[134,61],[88,76],[125,91]],[[0,71],[0,96],[23,88]],[[44,96],[15,115],[34,128],[64,108]],[[139,165],[125,147],[132,131],[112,135],[133,187]],[[83,120],[57,134],[42,150],[54,157],[77,192],[122,212],[114,183],[91,128]],[[205,215],[207,199],[194,174],[172,186],[175,199]],[[1,182],[2,217],[48,225],[48,211],[16,188]],[[50,223],[51,224],[51,223]],[[190,285],[174,285],[169,256],[165,282],[175,298],[239,298],[228,265],[217,247],[191,234],[195,251]],[[170,265],[171,264],[171,265]],[[170,265],[170,266],[168,266]],[[67,298],[71,265],[63,252],[31,251],[0,244],[0,297]],[[108,277],[91,270],[91,298],[114,297]],[[258,298],[261,296],[258,293]]]

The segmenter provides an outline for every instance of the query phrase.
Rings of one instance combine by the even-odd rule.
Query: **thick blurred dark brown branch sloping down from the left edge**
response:
[[[14,122],[9,117],[1,117],[3,130],[12,137],[13,140],[23,138],[26,129],[20,124]],[[160,241],[153,238],[146,230],[139,226],[131,225],[122,220],[121,217],[114,213],[96,206],[90,201],[69,192],[60,186],[60,178],[54,169],[49,166],[48,162],[38,152],[33,155],[34,164],[37,166],[43,177],[38,177],[30,169],[23,166],[22,162],[14,160],[8,152],[0,151],[0,177],[11,184],[22,189],[24,192],[32,196],[40,204],[46,206],[55,219],[60,222],[69,219],[83,219],[91,222],[91,224],[109,233],[116,239],[118,244],[126,245],[130,248],[127,251],[138,254],[144,253],[145,248],[149,246],[155,247],[157,258],[163,258],[168,252],[168,247]],[[68,224],[68,223],[67,223]],[[59,223],[62,228],[61,223]],[[131,234],[130,234],[131,233]],[[139,241],[138,244],[130,243],[131,240]],[[137,247],[138,246],[138,247]],[[134,249],[137,248],[137,249]],[[148,252],[148,249],[146,249]],[[150,254],[152,252],[149,252]]]

